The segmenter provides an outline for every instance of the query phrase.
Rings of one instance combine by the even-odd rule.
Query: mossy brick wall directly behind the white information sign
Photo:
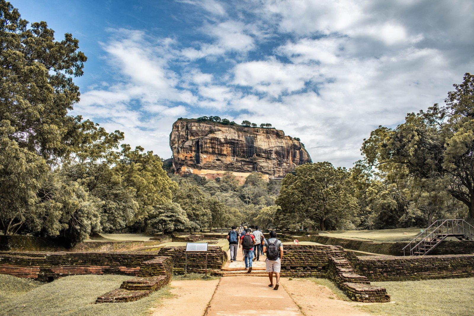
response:
[[[183,274],[186,264],[186,247],[162,247],[158,255],[173,258],[173,273]],[[222,265],[227,261],[227,253],[220,246],[208,247],[207,267],[210,274],[222,274]],[[203,273],[206,270],[206,253],[187,253],[187,271]]]

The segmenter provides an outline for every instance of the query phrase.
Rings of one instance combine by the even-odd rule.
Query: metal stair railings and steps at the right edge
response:
[[[451,223],[451,233],[449,233],[450,227],[449,223]],[[462,225],[460,225],[460,223]],[[464,223],[468,225],[468,229],[464,227]],[[445,226],[446,224],[446,226]],[[455,227],[456,224],[456,227]],[[436,228],[433,229],[433,226],[436,226]],[[457,234],[455,233],[455,228],[457,230]],[[471,231],[472,228],[472,231]],[[460,229],[462,233],[460,233]],[[431,231],[430,231],[431,230]],[[429,233],[428,233],[429,232]],[[474,234],[474,226],[470,225],[467,223],[464,219],[438,219],[434,221],[428,228],[426,228],[424,231],[422,231],[418,236],[416,236],[412,241],[410,241],[409,244],[407,244],[405,247],[402,248],[403,250],[403,255],[405,254],[405,250],[410,247],[410,255],[413,255],[415,250],[418,250],[418,253],[421,253],[421,247],[423,247],[424,253],[427,254],[429,253],[433,248],[435,248],[439,243],[441,243],[448,235],[464,235],[466,238],[473,240],[473,235]],[[439,237],[438,237],[439,236]],[[419,241],[418,241],[419,238]],[[436,240],[436,244],[432,244],[432,240]],[[418,242],[418,243],[417,243]],[[429,242],[429,249],[426,248],[426,245]],[[411,247],[412,244],[415,244],[413,247]]]

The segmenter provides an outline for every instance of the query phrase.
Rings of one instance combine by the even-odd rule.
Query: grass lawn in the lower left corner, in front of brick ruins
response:
[[[124,275],[77,275],[39,283],[0,274],[0,316],[140,316],[164,297],[164,287],[146,298],[128,303],[94,304],[98,296],[117,289]]]

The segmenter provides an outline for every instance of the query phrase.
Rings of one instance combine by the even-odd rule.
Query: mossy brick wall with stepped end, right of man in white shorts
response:
[[[285,245],[283,251],[283,276],[328,278],[357,302],[390,301],[384,288],[374,287],[365,276],[354,273],[340,246]]]

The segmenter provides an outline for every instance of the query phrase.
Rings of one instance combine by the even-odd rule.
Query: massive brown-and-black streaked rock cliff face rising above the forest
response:
[[[280,178],[310,163],[301,143],[282,130],[181,119],[170,134],[175,172],[217,178],[233,172],[242,182],[250,172]]]

